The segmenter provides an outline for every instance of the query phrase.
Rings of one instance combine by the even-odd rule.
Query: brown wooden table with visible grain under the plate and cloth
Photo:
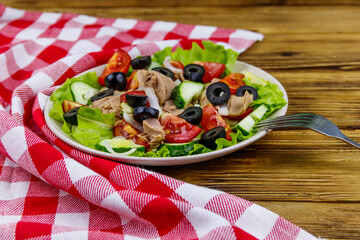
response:
[[[360,6],[356,0],[330,1],[328,6],[319,5],[320,0],[0,2],[28,10],[261,32],[263,42],[239,59],[268,71],[284,85],[288,113],[323,115],[360,142]],[[310,130],[273,131],[227,157],[148,169],[253,201],[315,236],[360,239],[360,150]]]

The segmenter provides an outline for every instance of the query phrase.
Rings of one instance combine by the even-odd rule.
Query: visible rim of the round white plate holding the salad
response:
[[[96,73],[98,75],[100,75],[104,68],[105,68],[105,65],[101,65],[101,66],[89,69],[86,72],[96,71]],[[283,96],[284,99],[286,100],[286,102],[288,102],[288,97],[287,97],[284,87],[273,76],[271,76],[267,72],[265,72],[257,67],[254,67],[250,64],[247,64],[244,62],[239,62],[239,61],[236,62],[234,72],[241,72],[242,70],[247,70],[247,71],[255,74],[256,76],[259,76],[265,80],[268,80],[272,83],[277,84],[280,87],[280,90],[284,94],[284,96]],[[83,72],[79,75],[82,75],[86,72]],[[189,164],[189,163],[206,161],[206,160],[221,157],[221,156],[230,154],[232,152],[238,151],[238,150],[250,145],[251,143],[257,141],[258,139],[262,138],[267,133],[266,131],[258,132],[253,137],[251,137],[245,141],[242,141],[234,146],[230,146],[230,147],[227,147],[227,148],[224,148],[224,149],[221,149],[218,151],[210,152],[210,153],[203,153],[203,154],[192,155],[192,156],[151,158],[151,157],[132,157],[132,156],[115,155],[115,154],[106,153],[106,152],[102,152],[102,151],[98,151],[98,150],[86,147],[86,146],[74,141],[74,139],[72,139],[71,137],[66,135],[63,131],[61,131],[62,124],[60,124],[56,120],[49,117],[49,111],[52,108],[52,105],[53,105],[52,101],[48,100],[48,102],[46,103],[46,106],[45,106],[45,111],[44,111],[45,121],[46,121],[47,125],[49,126],[50,130],[58,138],[60,138],[65,143],[69,144],[70,146],[72,146],[76,149],[79,149],[83,152],[86,152],[86,153],[89,153],[89,154],[92,154],[92,155],[95,155],[98,157],[112,159],[112,160],[115,160],[118,162],[124,162],[124,163],[129,163],[129,164],[136,164],[136,165],[171,166],[171,165],[181,165],[181,164]],[[283,108],[278,110],[275,114],[273,114],[273,116],[285,115],[285,113],[287,111],[287,107],[288,107],[288,105],[285,105]]]

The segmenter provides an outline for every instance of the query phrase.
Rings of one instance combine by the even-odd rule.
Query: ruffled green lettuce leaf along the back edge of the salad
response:
[[[230,74],[239,53],[232,49],[225,49],[224,46],[217,45],[211,41],[203,41],[202,44],[204,49],[193,42],[190,50],[184,50],[179,47],[174,52],[171,52],[171,47],[167,47],[155,53],[152,61],[163,64],[165,58],[170,55],[172,60],[180,61],[185,66],[195,61],[217,62],[225,64],[226,69],[224,75]]]

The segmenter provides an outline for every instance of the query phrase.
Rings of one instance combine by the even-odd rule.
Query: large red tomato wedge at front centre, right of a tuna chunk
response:
[[[160,118],[160,123],[165,130],[165,141],[168,142],[189,142],[201,132],[201,128],[198,126],[192,125],[172,114],[163,114]]]

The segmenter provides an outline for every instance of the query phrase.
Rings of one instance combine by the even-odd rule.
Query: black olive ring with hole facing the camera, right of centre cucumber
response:
[[[215,105],[226,103],[231,95],[229,86],[223,82],[212,83],[206,90],[207,99]]]

